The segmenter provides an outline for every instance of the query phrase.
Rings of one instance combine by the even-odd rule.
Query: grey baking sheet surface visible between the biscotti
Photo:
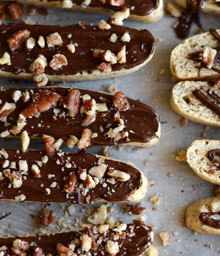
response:
[[[100,19],[107,19],[106,16],[96,14],[81,14],[62,10],[50,10],[48,16],[30,16],[33,21],[40,21],[42,24],[73,24],[82,21],[86,24],[98,24]],[[25,17],[24,19],[27,19]],[[213,256],[220,254],[220,243],[218,236],[195,235],[187,228],[181,227],[180,223],[183,213],[191,202],[213,196],[214,185],[203,181],[197,177],[184,162],[177,162],[175,155],[177,151],[185,149],[193,140],[201,139],[201,133],[206,133],[207,139],[220,139],[219,129],[206,128],[195,123],[188,123],[187,127],[181,127],[180,117],[176,115],[170,105],[169,98],[172,86],[169,71],[169,57],[171,50],[181,42],[177,39],[172,25],[175,19],[165,17],[155,24],[144,24],[133,21],[126,21],[126,26],[149,29],[157,39],[157,50],[153,60],[140,71],[109,80],[66,83],[65,85],[106,91],[115,84],[119,90],[126,93],[128,97],[140,99],[142,102],[154,107],[160,114],[162,122],[162,136],[157,146],[151,148],[117,147],[109,148],[110,157],[122,161],[130,161],[140,168],[149,180],[154,180],[155,184],[149,188],[146,197],[142,200],[146,210],[143,214],[147,217],[147,224],[155,226],[154,245],[158,248],[160,255],[190,255],[190,256]],[[204,28],[218,28],[220,25],[219,16],[208,14],[202,15]],[[196,32],[198,29],[193,28]],[[161,70],[164,69],[165,71]],[[160,74],[164,72],[164,74]],[[0,85],[5,87],[28,87],[30,82],[0,79]],[[0,147],[18,148],[18,140],[0,140]],[[41,143],[32,142],[32,148],[42,148]],[[67,150],[67,148],[63,148]],[[100,153],[103,148],[93,148],[90,152]],[[149,162],[146,165],[146,161]],[[173,176],[167,176],[172,173]],[[151,196],[157,195],[160,204],[157,206],[149,202]],[[0,235],[24,235],[40,231],[39,213],[42,204],[40,203],[7,203],[0,202],[0,214],[11,212],[11,215],[0,221]],[[68,204],[51,204],[55,210],[57,219],[68,224],[77,225],[79,218],[83,216],[89,206],[75,206],[74,213],[66,214],[63,217]],[[152,210],[156,207],[156,210]],[[134,217],[122,215],[121,210],[116,205],[111,205],[112,215],[123,220],[131,221]],[[35,215],[35,217],[33,217]],[[62,225],[52,225],[49,231],[60,230]],[[62,227],[63,228],[63,227]],[[64,228],[63,228],[64,230]],[[42,231],[42,230],[41,230]],[[47,232],[48,230],[46,230]],[[168,231],[171,235],[171,243],[163,247],[158,233]],[[173,232],[178,232],[175,236]],[[176,233],[175,233],[176,234]]]

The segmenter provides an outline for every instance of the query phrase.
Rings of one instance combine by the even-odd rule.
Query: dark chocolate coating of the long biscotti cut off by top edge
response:
[[[47,0],[48,2],[62,2],[62,0]],[[42,2],[45,2],[42,0]],[[84,0],[72,0],[75,5],[82,5]],[[62,3],[60,3],[62,4]],[[119,11],[122,8],[130,8],[130,12],[133,15],[145,16],[152,13],[159,5],[158,0],[125,0],[121,6],[113,6],[109,4],[109,1],[92,0],[88,7],[105,8],[113,11]],[[97,10],[98,12],[98,10]]]

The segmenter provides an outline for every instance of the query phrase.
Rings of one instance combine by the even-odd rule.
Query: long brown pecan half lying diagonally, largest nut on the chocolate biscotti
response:
[[[41,92],[40,98],[32,102],[21,114],[25,117],[32,117],[38,113],[48,111],[57,105],[60,98],[61,96],[56,92]]]

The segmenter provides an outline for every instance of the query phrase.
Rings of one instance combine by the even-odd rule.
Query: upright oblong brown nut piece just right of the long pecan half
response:
[[[66,96],[66,108],[68,109],[68,114],[71,117],[76,116],[80,109],[80,91],[77,89],[71,89]]]

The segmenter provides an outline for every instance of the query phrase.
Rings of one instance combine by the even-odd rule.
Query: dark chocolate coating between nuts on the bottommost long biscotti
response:
[[[118,256],[122,255],[132,255],[132,256],[140,256],[142,255],[147,248],[152,244],[151,238],[151,227],[147,227],[144,224],[135,221],[134,224],[127,225],[127,229],[125,232],[129,235],[133,233],[133,236],[129,239],[120,238],[117,240],[119,245],[119,252],[117,253]],[[29,243],[29,249],[26,251],[27,256],[32,256],[34,250],[39,247],[43,250],[45,255],[52,254],[58,255],[56,246],[58,243],[68,247],[68,245],[74,241],[74,239],[79,239],[80,237],[85,234],[86,231],[71,231],[66,233],[54,233],[54,234],[46,234],[46,235],[38,235],[38,236],[29,236],[29,237],[18,237],[22,241],[26,241]],[[100,238],[100,242],[95,249],[91,249],[89,251],[89,255],[94,256],[102,256],[103,252],[105,255],[109,255],[105,250],[106,241],[111,240],[113,235],[116,234],[112,229],[106,232],[106,238],[101,239],[103,234],[97,235],[97,241]],[[0,238],[0,247],[6,246],[8,249],[6,250],[6,254],[8,256],[15,255],[12,253],[11,248],[13,246],[13,241],[16,238],[9,237],[9,238]],[[76,246],[74,251],[81,251],[81,246]],[[79,255],[78,253],[76,255]]]

